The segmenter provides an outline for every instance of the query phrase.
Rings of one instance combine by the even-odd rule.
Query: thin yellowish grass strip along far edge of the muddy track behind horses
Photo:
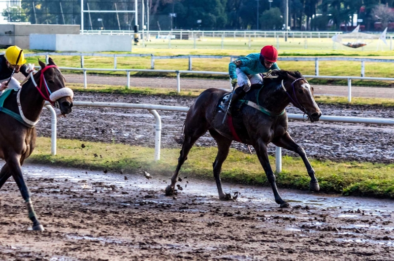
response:
[[[179,94],[173,89],[166,88],[148,88],[148,87],[130,87],[119,85],[98,85],[88,84],[87,89],[83,88],[83,84],[67,83],[67,87],[77,92],[93,92],[106,94],[138,94],[138,95],[168,95],[181,97],[197,97],[204,89],[188,89],[183,90]],[[394,99],[387,98],[360,98],[352,97],[352,102],[348,102],[347,97],[336,96],[315,96],[315,100],[319,104],[346,104],[346,105],[377,105],[383,107],[394,107]]]

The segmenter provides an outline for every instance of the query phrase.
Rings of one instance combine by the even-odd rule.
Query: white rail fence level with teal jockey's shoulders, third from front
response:
[[[220,56],[220,55],[179,55],[179,56],[155,56],[153,54],[102,54],[102,53],[35,53],[26,54],[25,57],[45,56],[48,63],[50,55],[60,56],[79,56],[81,61],[81,68],[85,68],[86,56],[98,57],[113,57],[114,69],[118,67],[118,57],[151,57],[151,69],[155,69],[155,60],[161,59],[188,59],[189,70],[193,70],[193,58],[197,59],[223,59],[229,58],[230,62],[242,56]],[[279,61],[292,61],[292,62],[315,62],[315,75],[319,76],[319,61],[352,61],[361,63],[361,77],[365,77],[365,62],[367,63],[394,63],[394,59],[373,59],[373,58],[351,58],[351,57],[279,57]],[[89,69],[89,68],[87,68]]]

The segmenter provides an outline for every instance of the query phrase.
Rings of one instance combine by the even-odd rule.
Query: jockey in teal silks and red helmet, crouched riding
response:
[[[254,84],[263,84],[263,77],[260,73],[271,70],[280,70],[276,64],[278,51],[272,45],[264,46],[260,53],[252,53],[241,57],[229,64],[229,74],[231,84],[236,88],[231,98],[231,104],[242,97],[250,90]],[[230,96],[229,96],[230,97]],[[225,106],[229,105],[230,100],[226,100]]]

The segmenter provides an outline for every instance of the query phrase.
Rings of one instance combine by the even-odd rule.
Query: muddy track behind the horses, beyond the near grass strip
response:
[[[191,106],[194,98],[169,96],[108,95],[75,93],[74,100],[113,101],[176,106]],[[376,106],[320,105],[324,115],[393,118],[394,108]],[[301,113],[293,106],[288,113]],[[182,133],[186,113],[159,111],[162,118],[162,147],[180,148],[175,141]],[[117,142],[154,146],[154,117],[147,110],[75,107],[67,118],[58,119],[58,137],[89,141]],[[50,114],[44,109],[37,127],[38,135],[50,136]],[[309,157],[335,161],[394,163],[394,127],[366,124],[309,123],[293,121],[289,132]],[[209,134],[196,146],[216,146]],[[245,145],[233,142],[233,148],[248,152]],[[269,153],[274,146],[269,145]],[[284,151],[285,155],[295,155]]]

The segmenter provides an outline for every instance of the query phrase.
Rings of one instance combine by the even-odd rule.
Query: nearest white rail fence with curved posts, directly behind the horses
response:
[[[52,106],[46,102],[45,107],[51,112],[51,154],[56,155],[57,140],[57,119],[56,112]],[[155,124],[155,161],[160,160],[162,121],[157,110],[188,112],[188,107],[166,106],[155,104],[135,104],[135,103],[116,103],[116,102],[92,102],[92,101],[74,101],[74,106],[82,107],[100,107],[100,108],[122,108],[122,109],[145,109],[148,110],[156,120]],[[302,114],[288,114],[289,120],[305,121]],[[385,118],[361,118],[361,117],[342,117],[342,116],[322,116],[321,121],[342,122],[342,123],[364,123],[378,125],[394,125],[394,119]],[[276,147],[275,151],[276,171],[282,171],[282,148]]]

